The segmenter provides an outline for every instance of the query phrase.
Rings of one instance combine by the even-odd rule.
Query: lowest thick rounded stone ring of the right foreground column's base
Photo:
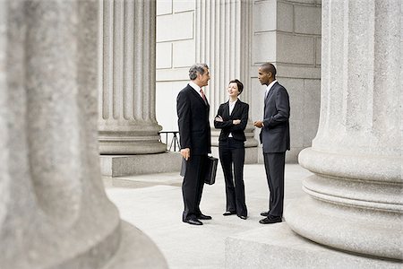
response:
[[[306,195],[289,204],[287,224],[306,239],[365,256],[403,260],[399,212],[333,204]]]

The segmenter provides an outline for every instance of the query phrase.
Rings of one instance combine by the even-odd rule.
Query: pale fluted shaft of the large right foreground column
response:
[[[322,107],[313,147],[399,155],[401,16],[393,1],[323,6]],[[396,6],[395,6],[396,7]],[[339,63],[335,65],[334,63]],[[387,132],[385,132],[387,131]],[[338,134],[328,141],[329,134]],[[361,136],[361,139],[351,137]],[[325,141],[324,141],[325,140]],[[371,143],[371,147],[367,145]]]

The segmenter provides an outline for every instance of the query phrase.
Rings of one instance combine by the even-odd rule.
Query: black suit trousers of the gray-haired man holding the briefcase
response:
[[[182,220],[194,219],[201,214],[200,201],[204,186],[206,155],[191,155],[186,161],[182,195],[184,196],[184,213]]]

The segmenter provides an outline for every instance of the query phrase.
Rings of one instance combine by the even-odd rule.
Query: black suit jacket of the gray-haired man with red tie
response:
[[[210,105],[187,84],[176,99],[177,124],[181,149],[190,148],[192,155],[211,152]]]

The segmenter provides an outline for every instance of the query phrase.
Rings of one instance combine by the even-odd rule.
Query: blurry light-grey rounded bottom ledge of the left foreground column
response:
[[[168,268],[159,248],[141,230],[122,221],[122,239],[104,269]]]

